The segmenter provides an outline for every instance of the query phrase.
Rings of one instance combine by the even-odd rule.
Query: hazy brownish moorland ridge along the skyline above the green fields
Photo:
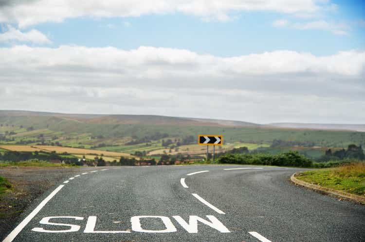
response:
[[[0,110],[0,116],[32,116],[57,117],[73,119],[90,124],[146,124],[146,125],[181,125],[181,126],[213,126],[213,127],[251,127],[277,129],[323,129],[323,130],[353,130],[365,132],[365,124],[305,124],[305,123],[271,123],[255,124],[236,120],[203,119],[189,117],[169,117],[159,115],[132,114],[79,114],[79,113],[48,113],[17,110]]]

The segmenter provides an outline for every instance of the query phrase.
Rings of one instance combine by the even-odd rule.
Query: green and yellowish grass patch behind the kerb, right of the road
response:
[[[356,195],[365,195],[365,163],[305,171],[296,177],[305,182]]]

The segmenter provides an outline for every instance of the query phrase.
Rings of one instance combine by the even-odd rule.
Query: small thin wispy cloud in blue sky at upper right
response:
[[[344,23],[329,23],[325,20],[292,23],[285,19],[278,19],[273,22],[274,27],[288,27],[297,30],[323,30],[336,35],[347,35],[349,26]]]

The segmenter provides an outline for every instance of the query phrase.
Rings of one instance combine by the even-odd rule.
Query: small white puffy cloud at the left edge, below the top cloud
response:
[[[33,29],[28,32],[21,32],[11,26],[7,26],[6,32],[0,33],[0,42],[31,42],[34,44],[51,44],[43,33]]]

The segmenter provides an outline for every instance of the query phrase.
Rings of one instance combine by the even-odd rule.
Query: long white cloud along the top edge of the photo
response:
[[[270,11],[293,15],[313,15],[329,3],[317,0],[2,0],[0,22],[17,23],[20,28],[66,18],[128,17],[149,14],[183,13],[203,20],[228,21],[241,11]]]

